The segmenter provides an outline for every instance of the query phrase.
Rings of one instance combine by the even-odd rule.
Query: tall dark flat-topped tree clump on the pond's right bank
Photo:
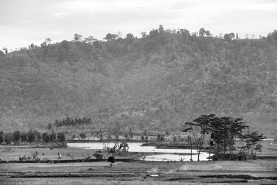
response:
[[[226,154],[226,150],[229,149],[230,159],[232,158],[233,150],[235,150],[235,141],[238,139],[245,141],[246,144],[242,148],[251,150],[251,157],[253,157],[253,150],[260,150],[262,147],[261,145],[256,146],[258,141],[265,139],[263,134],[257,134],[256,132],[245,134],[243,131],[249,126],[245,125],[242,118],[217,117],[215,114],[199,116],[193,122],[186,122],[183,127],[185,128],[184,132],[189,132],[190,137],[195,141],[198,161],[207,136],[211,139],[211,146],[214,146],[214,143],[216,144],[215,156],[220,155],[221,148],[223,148],[224,155]],[[190,142],[193,139],[190,139]]]

